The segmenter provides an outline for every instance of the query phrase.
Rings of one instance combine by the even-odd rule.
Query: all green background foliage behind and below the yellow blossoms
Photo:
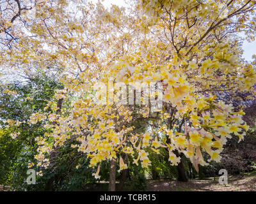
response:
[[[46,75],[31,78],[25,84],[14,82],[0,87],[1,185],[20,191],[25,189],[27,191],[92,191],[108,189],[109,162],[104,161],[100,165],[100,181],[105,182],[105,184],[99,184],[99,180],[95,180],[92,176],[92,173],[97,171],[97,167],[95,169],[89,168],[89,159],[81,152],[77,152],[77,149],[70,147],[68,142],[58,149],[58,156],[54,160],[54,164],[43,171],[44,175],[36,177],[36,185],[26,184],[28,164],[36,163],[34,158],[37,149],[35,138],[36,136],[44,135],[48,130],[44,128],[43,122],[38,122],[37,124],[26,122],[20,124],[19,127],[9,127],[4,124],[4,120],[28,121],[32,113],[44,112],[47,100],[52,101],[56,89],[62,88],[61,84]],[[5,89],[16,91],[17,95],[4,94]],[[70,101],[65,101],[62,110],[65,112],[68,106],[70,106]],[[136,117],[135,111],[134,117]],[[131,125],[134,126],[134,134],[145,133],[148,128],[148,120],[144,118],[138,119]],[[10,135],[15,132],[19,132],[20,135],[13,139]],[[251,128],[245,138],[246,142],[255,143],[255,128]],[[223,153],[230,155],[230,152],[234,149],[244,147],[244,149],[239,149],[239,154],[243,153],[247,147],[246,142],[241,142],[242,145],[235,147],[234,144],[236,142],[237,138],[234,138],[234,141],[233,139],[230,140],[227,143],[227,152]],[[151,149],[148,149],[147,152],[149,152],[148,157],[152,162],[147,169],[142,168],[140,163],[138,166],[133,164],[132,158],[128,157],[127,164],[129,169],[127,170],[127,179],[124,184],[125,191],[147,190],[146,173],[151,179],[177,179],[177,166],[170,165],[168,161],[169,154],[166,149],[161,148],[160,154],[155,154]],[[205,161],[209,159],[207,154],[203,154],[203,156]],[[253,158],[252,155],[250,156]],[[241,157],[243,157],[242,154]],[[223,163],[211,162],[209,166],[199,165],[199,173],[197,173],[189,159],[182,157],[182,162],[190,179],[195,179],[196,177],[205,179],[218,176],[218,170],[225,168]],[[256,165],[256,160],[251,159],[246,165],[252,166],[251,170],[254,170],[255,167],[253,168],[253,166]],[[76,166],[79,166],[79,168],[76,168]],[[33,168],[36,170],[37,167],[34,166]],[[239,166],[237,168],[240,171],[241,168]],[[120,180],[121,176],[122,172],[117,173],[116,179]]]

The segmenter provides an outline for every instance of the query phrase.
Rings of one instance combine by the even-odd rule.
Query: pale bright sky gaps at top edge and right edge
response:
[[[129,0],[128,0],[129,1]],[[93,3],[97,3],[97,0],[92,0]],[[124,0],[104,0],[102,2],[104,6],[111,7],[111,4],[115,4],[117,6],[125,6]],[[256,41],[248,43],[248,41],[244,40],[243,43],[244,54],[243,57],[246,61],[252,61],[252,55],[256,54]]]

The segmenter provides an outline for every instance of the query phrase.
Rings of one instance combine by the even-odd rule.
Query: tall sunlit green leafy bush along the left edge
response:
[[[0,184],[12,189],[26,189],[26,174],[29,163],[35,163],[36,136],[47,131],[42,123],[22,123],[20,126],[6,126],[4,120],[28,121],[32,113],[42,111],[51,100],[56,89],[62,85],[45,75],[31,78],[28,82],[2,85],[0,87]],[[4,90],[16,91],[16,95]],[[20,133],[12,138],[12,133]]]

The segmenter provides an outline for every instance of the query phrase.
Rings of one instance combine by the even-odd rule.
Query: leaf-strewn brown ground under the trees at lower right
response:
[[[228,177],[227,185],[220,185],[218,177],[207,180],[193,179],[188,182],[176,180],[148,180],[148,191],[256,191],[256,171]]]

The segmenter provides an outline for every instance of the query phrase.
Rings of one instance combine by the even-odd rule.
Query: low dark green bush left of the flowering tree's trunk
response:
[[[79,168],[76,166],[80,164]],[[43,171],[36,185],[27,185],[31,191],[84,191],[86,184],[95,182],[89,160],[81,157],[75,149],[62,147],[52,168]]]

